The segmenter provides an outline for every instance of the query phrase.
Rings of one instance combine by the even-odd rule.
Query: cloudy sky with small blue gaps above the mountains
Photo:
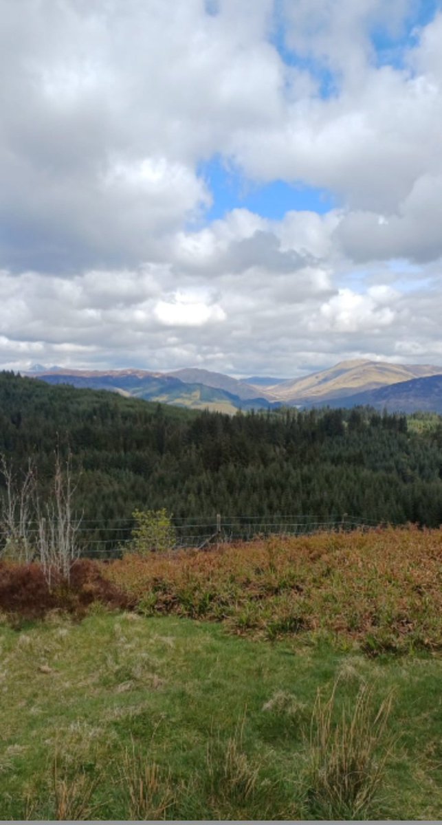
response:
[[[442,0],[0,0],[0,366],[442,365]]]

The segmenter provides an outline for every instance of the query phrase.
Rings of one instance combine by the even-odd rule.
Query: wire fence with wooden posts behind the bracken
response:
[[[332,516],[324,518],[312,515],[277,516],[192,516],[172,518],[175,544],[172,549],[210,549],[217,544],[252,541],[270,535],[312,535],[322,531],[350,531],[370,529],[378,521],[360,516]],[[132,530],[136,521],[82,521],[76,541],[83,558],[118,559],[133,541]]]

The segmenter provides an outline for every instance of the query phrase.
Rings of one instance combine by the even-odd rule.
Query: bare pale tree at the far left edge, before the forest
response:
[[[3,544],[0,555],[29,563],[35,554],[35,467],[30,459],[20,478],[11,462],[0,455],[0,474],[6,494],[0,508],[0,529]]]

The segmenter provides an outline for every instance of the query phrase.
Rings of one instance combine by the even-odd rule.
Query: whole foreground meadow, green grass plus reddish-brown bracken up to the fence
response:
[[[441,818],[441,547],[3,564],[1,818]]]

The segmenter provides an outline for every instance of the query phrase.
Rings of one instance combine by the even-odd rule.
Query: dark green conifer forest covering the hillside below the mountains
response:
[[[16,468],[32,457],[44,491],[58,445],[73,455],[78,512],[104,521],[106,538],[135,507],[442,521],[437,418],[419,432],[369,408],[230,417],[0,375],[0,451]]]

